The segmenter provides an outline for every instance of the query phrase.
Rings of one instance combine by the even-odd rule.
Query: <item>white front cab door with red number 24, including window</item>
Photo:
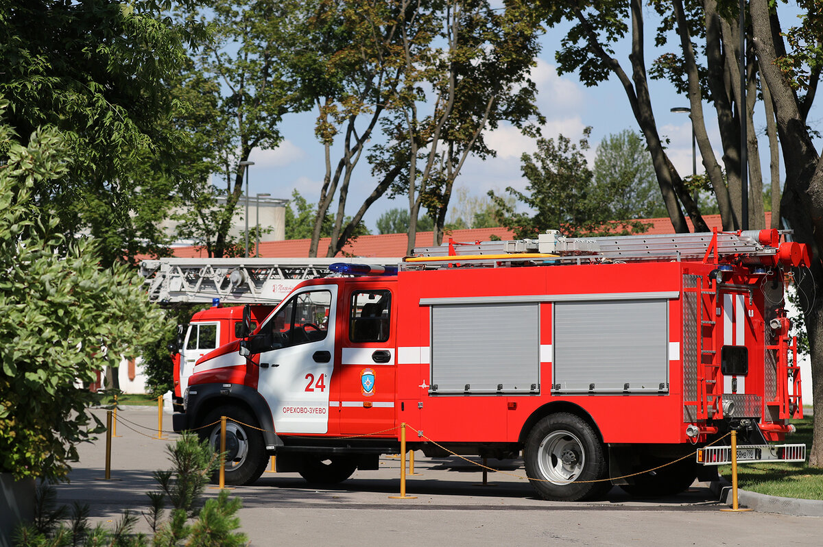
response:
[[[271,336],[259,356],[258,391],[277,433],[328,433],[334,369],[337,285],[310,285],[281,304],[258,336]]]

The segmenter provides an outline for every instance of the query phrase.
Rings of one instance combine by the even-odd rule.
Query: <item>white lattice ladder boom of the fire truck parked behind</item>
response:
[[[151,302],[277,304],[333,262],[397,266],[400,258],[160,258],[140,263]]]

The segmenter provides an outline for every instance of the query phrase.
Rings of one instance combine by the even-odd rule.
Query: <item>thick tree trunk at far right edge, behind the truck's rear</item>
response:
[[[806,243],[811,254],[811,275],[796,276],[803,294],[823,294],[823,163],[811,141],[795,95],[774,64],[777,57],[772,39],[772,17],[768,0],[751,0],[753,44],[760,71],[769,86],[786,183],[781,211],[794,230],[794,239]],[[801,299],[811,350],[811,389],[815,398],[815,423],[809,465],[823,467],[823,299]]]

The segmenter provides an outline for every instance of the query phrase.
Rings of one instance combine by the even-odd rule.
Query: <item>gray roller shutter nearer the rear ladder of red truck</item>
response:
[[[554,304],[554,391],[668,389],[668,305],[660,300]]]

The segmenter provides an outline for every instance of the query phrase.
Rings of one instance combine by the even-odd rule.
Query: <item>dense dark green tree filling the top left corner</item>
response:
[[[184,62],[184,44],[202,37],[200,25],[161,16],[167,7],[161,0],[0,6],[0,95],[13,105],[7,123],[19,137],[12,138],[55,127],[72,165],[38,181],[34,202],[67,240],[100,240],[104,265],[161,253],[165,242],[158,225],[179,183],[179,140],[167,123],[176,104],[163,82]]]

